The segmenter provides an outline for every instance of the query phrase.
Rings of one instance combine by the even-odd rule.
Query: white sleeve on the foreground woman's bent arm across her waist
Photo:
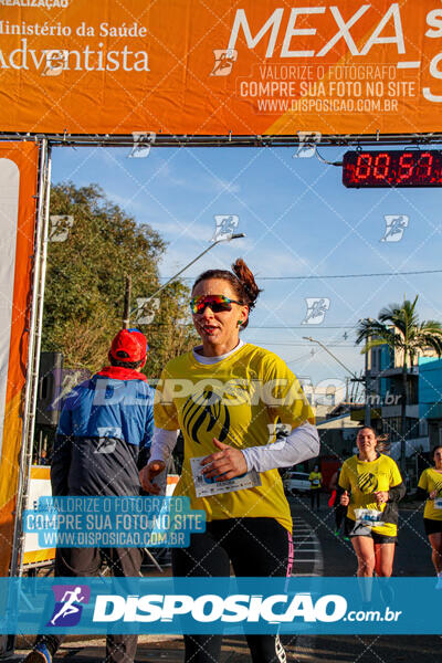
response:
[[[273,444],[242,449],[248,472],[267,472],[275,467],[292,467],[297,463],[319,455],[319,434],[312,423],[303,423],[295,428],[290,435]]]

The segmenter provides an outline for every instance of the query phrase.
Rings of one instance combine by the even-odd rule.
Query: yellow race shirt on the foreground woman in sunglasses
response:
[[[245,344],[217,364],[198,361],[192,352],[169,361],[154,403],[157,428],[181,429],[185,438],[182,474],[173,495],[190,497],[191,507],[204,509],[208,520],[275,518],[292,532],[288,503],[277,470],[262,472],[261,486],[197,497],[190,459],[218,451],[224,444],[246,449],[275,441],[275,424],[293,428],[315,422],[297,381],[280,357]]]

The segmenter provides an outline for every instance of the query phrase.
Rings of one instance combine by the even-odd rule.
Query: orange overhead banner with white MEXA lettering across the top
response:
[[[293,4],[2,3],[0,130],[440,130],[434,0]]]

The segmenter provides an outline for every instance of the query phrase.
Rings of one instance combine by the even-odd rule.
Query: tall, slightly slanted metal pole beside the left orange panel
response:
[[[32,275],[32,299],[29,324],[29,346],[27,381],[24,388],[23,429],[20,450],[20,467],[17,487],[15,523],[12,539],[10,576],[20,576],[23,559],[22,514],[28,495],[30,467],[32,462],[32,442],[34,434],[38,372],[41,346],[41,322],[43,316],[43,291],[46,261],[46,238],[49,221],[49,188],[51,159],[48,139],[40,143],[40,172],[38,182],[38,210],[34,233],[34,256]],[[40,329],[39,329],[40,326]]]

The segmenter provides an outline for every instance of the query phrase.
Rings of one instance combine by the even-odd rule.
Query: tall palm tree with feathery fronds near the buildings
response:
[[[402,354],[402,398],[401,398],[401,450],[400,464],[406,470],[406,434],[408,401],[408,362],[413,366],[417,355],[431,348],[438,357],[442,355],[442,325],[435,320],[419,322],[414,301],[404,299],[402,304],[390,304],[383,307],[378,319],[364,318],[359,322],[356,345],[365,343],[361,352],[371,348],[388,345]]]

